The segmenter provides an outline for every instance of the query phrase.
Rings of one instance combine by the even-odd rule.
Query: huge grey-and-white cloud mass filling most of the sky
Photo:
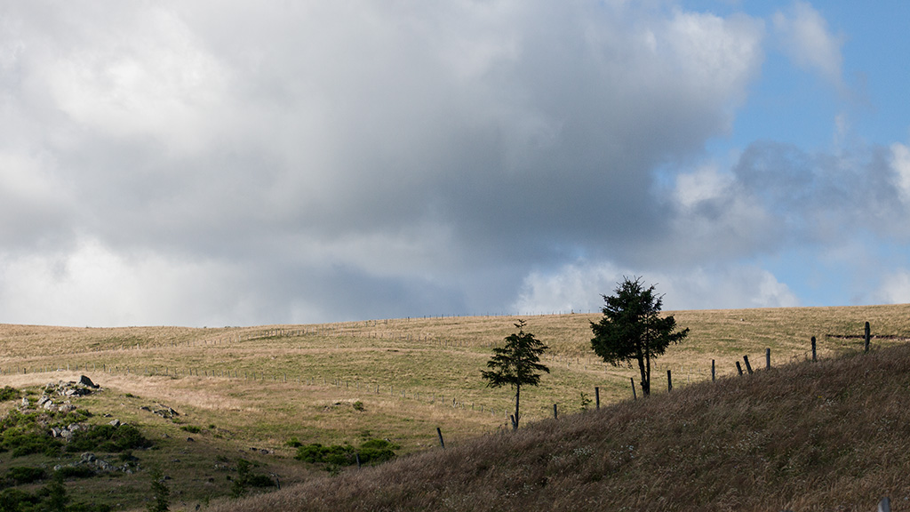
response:
[[[727,132],[763,59],[759,20],[623,2],[7,14],[0,255],[36,286],[4,311],[54,323],[501,309],[664,229],[652,169]]]

